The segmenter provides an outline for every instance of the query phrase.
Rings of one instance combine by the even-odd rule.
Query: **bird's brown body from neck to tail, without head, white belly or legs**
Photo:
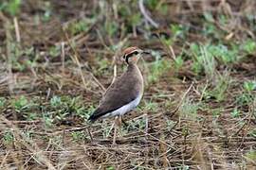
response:
[[[143,77],[137,65],[131,64],[127,71],[109,86],[101,98],[99,107],[90,116],[89,120],[95,121],[137,99],[140,100],[142,93]]]

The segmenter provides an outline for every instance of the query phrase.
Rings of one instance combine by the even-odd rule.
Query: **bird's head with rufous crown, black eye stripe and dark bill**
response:
[[[122,59],[125,60],[127,64],[136,64],[142,54],[148,54],[148,52],[139,49],[137,46],[131,46],[123,51]]]

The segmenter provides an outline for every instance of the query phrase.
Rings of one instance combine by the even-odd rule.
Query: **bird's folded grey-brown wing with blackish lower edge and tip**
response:
[[[130,77],[132,78],[132,77]],[[99,107],[93,112],[89,120],[94,121],[104,114],[118,110],[122,106],[137,98],[139,90],[136,81],[127,81],[126,75],[120,76],[104,93]]]

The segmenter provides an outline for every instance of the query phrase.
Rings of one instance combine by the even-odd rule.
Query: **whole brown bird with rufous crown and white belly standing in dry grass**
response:
[[[107,88],[99,106],[88,118],[89,121],[95,122],[98,119],[115,117],[113,144],[116,144],[117,126],[121,123],[121,117],[134,110],[142,98],[144,82],[137,61],[144,54],[150,53],[137,46],[128,47],[123,51],[122,60],[127,64],[126,71]]]

